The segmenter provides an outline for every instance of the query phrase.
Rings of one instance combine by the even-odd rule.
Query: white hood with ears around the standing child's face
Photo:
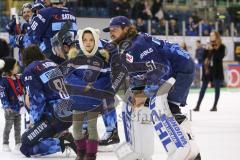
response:
[[[86,44],[86,42],[84,42],[85,34],[87,33],[90,33],[94,39],[94,47],[91,50],[89,50],[88,48],[90,47],[89,44]],[[85,56],[91,57],[91,56],[94,56],[95,53],[97,52],[99,34],[100,34],[100,31],[98,29],[94,29],[91,27],[87,27],[83,30],[78,30],[78,40],[79,40],[80,48]]]

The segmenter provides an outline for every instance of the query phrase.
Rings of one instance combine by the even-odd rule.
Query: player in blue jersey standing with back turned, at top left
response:
[[[76,17],[64,7],[65,0],[50,0],[51,7],[41,9],[31,21],[30,30],[24,36],[16,38],[17,44],[27,47],[30,44],[40,46],[42,53],[51,61],[60,64],[63,58],[52,51],[51,39],[66,22],[72,25],[69,31],[74,39],[77,33]]]

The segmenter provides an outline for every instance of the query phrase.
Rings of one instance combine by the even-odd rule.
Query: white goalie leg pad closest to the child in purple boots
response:
[[[148,107],[123,106],[126,142],[115,148],[119,160],[150,160],[154,153],[154,129]],[[146,138],[147,137],[147,138]],[[147,145],[146,145],[147,144]]]

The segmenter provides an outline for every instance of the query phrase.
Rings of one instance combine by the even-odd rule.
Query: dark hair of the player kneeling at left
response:
[[[37,45],[30,45],[23,51],[23,64],[25,66],[28,66],[33,61],[41,61],[44,59],[45,56]]]

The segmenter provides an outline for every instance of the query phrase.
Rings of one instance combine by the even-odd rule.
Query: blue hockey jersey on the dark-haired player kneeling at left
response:
[[[22,75],[22,81],[30,100],[30,117],[33,123],[41,118],[51,118],[53,104],[61,100],[58,93],[48,86],[47,77],[54,74],[56,64],[51,61],[34,61]]]

